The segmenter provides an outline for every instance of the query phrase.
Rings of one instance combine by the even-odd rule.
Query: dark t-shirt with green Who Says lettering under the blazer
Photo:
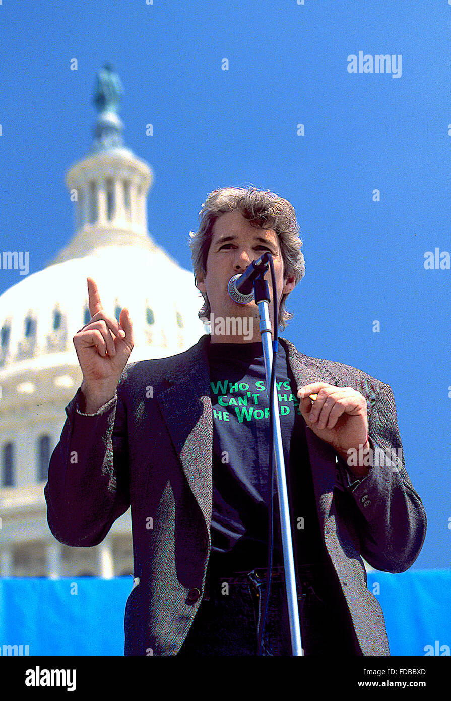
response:
[[[211,339],[209,339],[211,341]],[[266,567],[268,560],[269,402],[258,343],[207,345],[213,414],[211,569]],[[279,342],[275,382],[284,448],[295,562],[324,562],[305,421],[296,380]],[[273,566],[283,564],[274,461]],[[225,576],[225,575],[224,575]]]

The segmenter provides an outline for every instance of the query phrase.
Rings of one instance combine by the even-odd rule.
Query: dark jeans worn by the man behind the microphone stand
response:
[[[298,568],[298,608],[304,655],[361,655],[349,613],[317,566]],[[207,573],[204,597],[179,655],[257,655],[266,569]],[[273,568],[261,655],[292,655],[283,567]]]

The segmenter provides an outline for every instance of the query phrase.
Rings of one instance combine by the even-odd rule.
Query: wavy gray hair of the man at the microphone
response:
[[[305,273],[304,256],[300,247],[303,242],[299,238],[299,227],[296,212],[288,200],[279,197],[270,190],[257,187],[221,187],[207,196],[202,202],[199,212],[199,229],[190,231],[191,259],[193,261],[194,282],[197,275],[204,278],[207,275],[207,256],[213,236],[213,226],[216,220],[225,214],[240,210],[243,217],[249,220],[251,226],[261,229],[272,229],[279,238],[280,251],[284,262],[284,279],[295,277],[295,285]],[[201,292],[204,305],[199,312],[201,320],[209,320],[210,303],[207,294]],[[284,329],[293,318],[293,313],[286,310],[285,300],[289,292],[282,294],[279,304],[279,328]]]

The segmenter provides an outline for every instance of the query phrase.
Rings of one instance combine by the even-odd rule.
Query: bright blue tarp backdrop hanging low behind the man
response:
[[[0,654],[23,645],[29,655],[123,655],[131,589],[131,577],[0,579]],[[384,611],[391,655],[450,654],[451,570],[371,572],[368,589]]]

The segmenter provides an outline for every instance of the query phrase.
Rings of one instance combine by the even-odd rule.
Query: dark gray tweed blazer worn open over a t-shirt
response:
[[[176,655],[202,601],[212,502],[207,339],[169,358],[129,362],[115,397],[97,414],[78,411],[78,389],[50,459],[48,524],[61,543],[97,545],[131,506],[134,585],[125,607],[125,655]],[[279,341],[298,387],[313,381],[353,387],[366,397],[373,444],[401,448],[388,385]],[[309,428],[307,445],[324,544],[361,652],[389,655],[361,556],[383,571],[408,569],[426,534],[422,501],[403,461],[373,466],[352,481],[344,461]]]

